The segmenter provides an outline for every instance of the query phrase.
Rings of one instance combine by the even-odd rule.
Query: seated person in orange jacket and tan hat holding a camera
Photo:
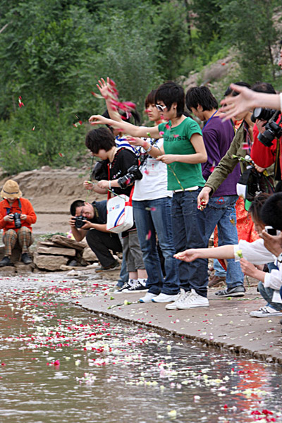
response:
[[[17,241],[22,250],[21,260],[30,264],[28,247],[32,244],[32,227],[36,222],[35,211],[30,202],[22,197],[22,192],[15,180],[7,180],[0,193],[4,199],[0,202],[0,229],[3,229],[5,245],[4,258],[0,266],[11,264],[12,250]]]

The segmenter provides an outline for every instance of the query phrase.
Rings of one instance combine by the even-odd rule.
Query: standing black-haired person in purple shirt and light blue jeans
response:
[[[231,121],[223,122],[217,113],[218,104],[207,87],[193,87],[186,94],[186,106],[192,114],[201,121],[205,121],[202,135],[207,149],[207,162],[202,164],[202,173],[207,180],[226,154],[234,137]],[[206,219],[207,240],[212,235],[214,228],[219,230],[219,245],[238,243],[236,228],[235,203],[238,200],[236,184],[240,178],[240,165],[238,164],[226,180],[214,192],[209,200]],[[227,288],[219,290],[218,297],[243,297],[244,275],[240,269],[240,262],[234,259],[227,260],[226,285]]]

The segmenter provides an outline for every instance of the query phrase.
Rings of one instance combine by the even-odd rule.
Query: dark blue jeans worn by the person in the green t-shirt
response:
[[[181,191],[173,194],[172,225],[173,240],[176,252],[188,248],[205,248],[206,210],[197,208],[197,196],[202,188],[196,191]],[[185,291],[193,288],[197,294],[207,297],[207,259],[196,259],[194,262],[178,261],[180,288]]]

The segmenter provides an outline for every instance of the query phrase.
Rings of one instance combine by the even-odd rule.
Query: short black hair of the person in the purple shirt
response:
[[[217,109],[219,104],[208,87],[192,87],[186,93],[186,106],[188,110],[202,106],[203,111]]]

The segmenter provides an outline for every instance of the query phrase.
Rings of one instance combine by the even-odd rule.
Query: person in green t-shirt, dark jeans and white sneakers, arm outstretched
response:
[[[203,212],[197,209],[197,195],[204,186],[201,163],[207,161],[200,126],[183,114],[184,90],[175,82],[162,84],[156,92],[155,103],[166,123],[153,128],[116,122],[94,115],[90,122],[121,128],[133,137],[164,138],[160,149],[146,141],[133,141],[152,156],[168,165],[168,190],[173,190],[173,240],[176,252],[189,248],[207,247]],[[180,262],[180,293],[166,309],[189,309],[209,305],[207,300],[207,260]]]

